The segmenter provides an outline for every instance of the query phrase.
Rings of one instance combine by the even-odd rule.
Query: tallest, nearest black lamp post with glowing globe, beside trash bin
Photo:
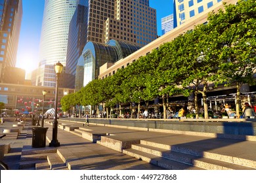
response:
[[[54,65],[54,70],[56,73],[56,87],[55,87],[55,107],[54,107],[54,120],[53,120],[53,139],[50,142],[49,146],[60,146],[60,142],[57,140],[58,134],[58,121],[57,121],[57,105],[58,105],[58,76],[60,75],[63,69],[63,65],[58,62]]]

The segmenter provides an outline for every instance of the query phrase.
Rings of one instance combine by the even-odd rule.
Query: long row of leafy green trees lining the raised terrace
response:
[[[196,118],[198,93],[202,93],[204,117],[208,118],[207,86],[236,83],[236,111],[240,108],[240,87],[252,84],[255,73],[256,3],[238,1],[224,10],[211,12],[208,23],[166,42],[125,69],[104,80],[93,80],[79,92],[61,100],[62,110],[75,105],[113,107],[117,103],[152,101],[161,96],[163,111],[166,99],[194,92]],[[163,114],[163,116],[166,116]]]

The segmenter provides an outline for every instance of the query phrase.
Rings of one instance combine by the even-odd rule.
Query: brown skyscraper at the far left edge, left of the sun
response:
[[[0,82],[8,79],[7,67],[16,65],[21,20],[22,0],[0,0]]]

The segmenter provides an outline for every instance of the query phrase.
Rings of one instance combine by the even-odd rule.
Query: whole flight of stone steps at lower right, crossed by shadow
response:
[[[251,162],[247,159],[235,161],[231,156],[205,153],[193,146],[169,146],[156,142],[140,141],[140,144],[132,144],[131,148],[123,150],[123,153],[165,169],[256,169],[256,161]]]

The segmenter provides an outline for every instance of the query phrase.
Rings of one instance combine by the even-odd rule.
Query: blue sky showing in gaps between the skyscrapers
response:
[[[26,69],[28,73],[38,66],[45,0],[23,0],[22,3],[23,17],[16,67]],[[173,0],[150,0],[150,7],[156,8],[158,35],[161,35],[161,18],[173,13]]]

